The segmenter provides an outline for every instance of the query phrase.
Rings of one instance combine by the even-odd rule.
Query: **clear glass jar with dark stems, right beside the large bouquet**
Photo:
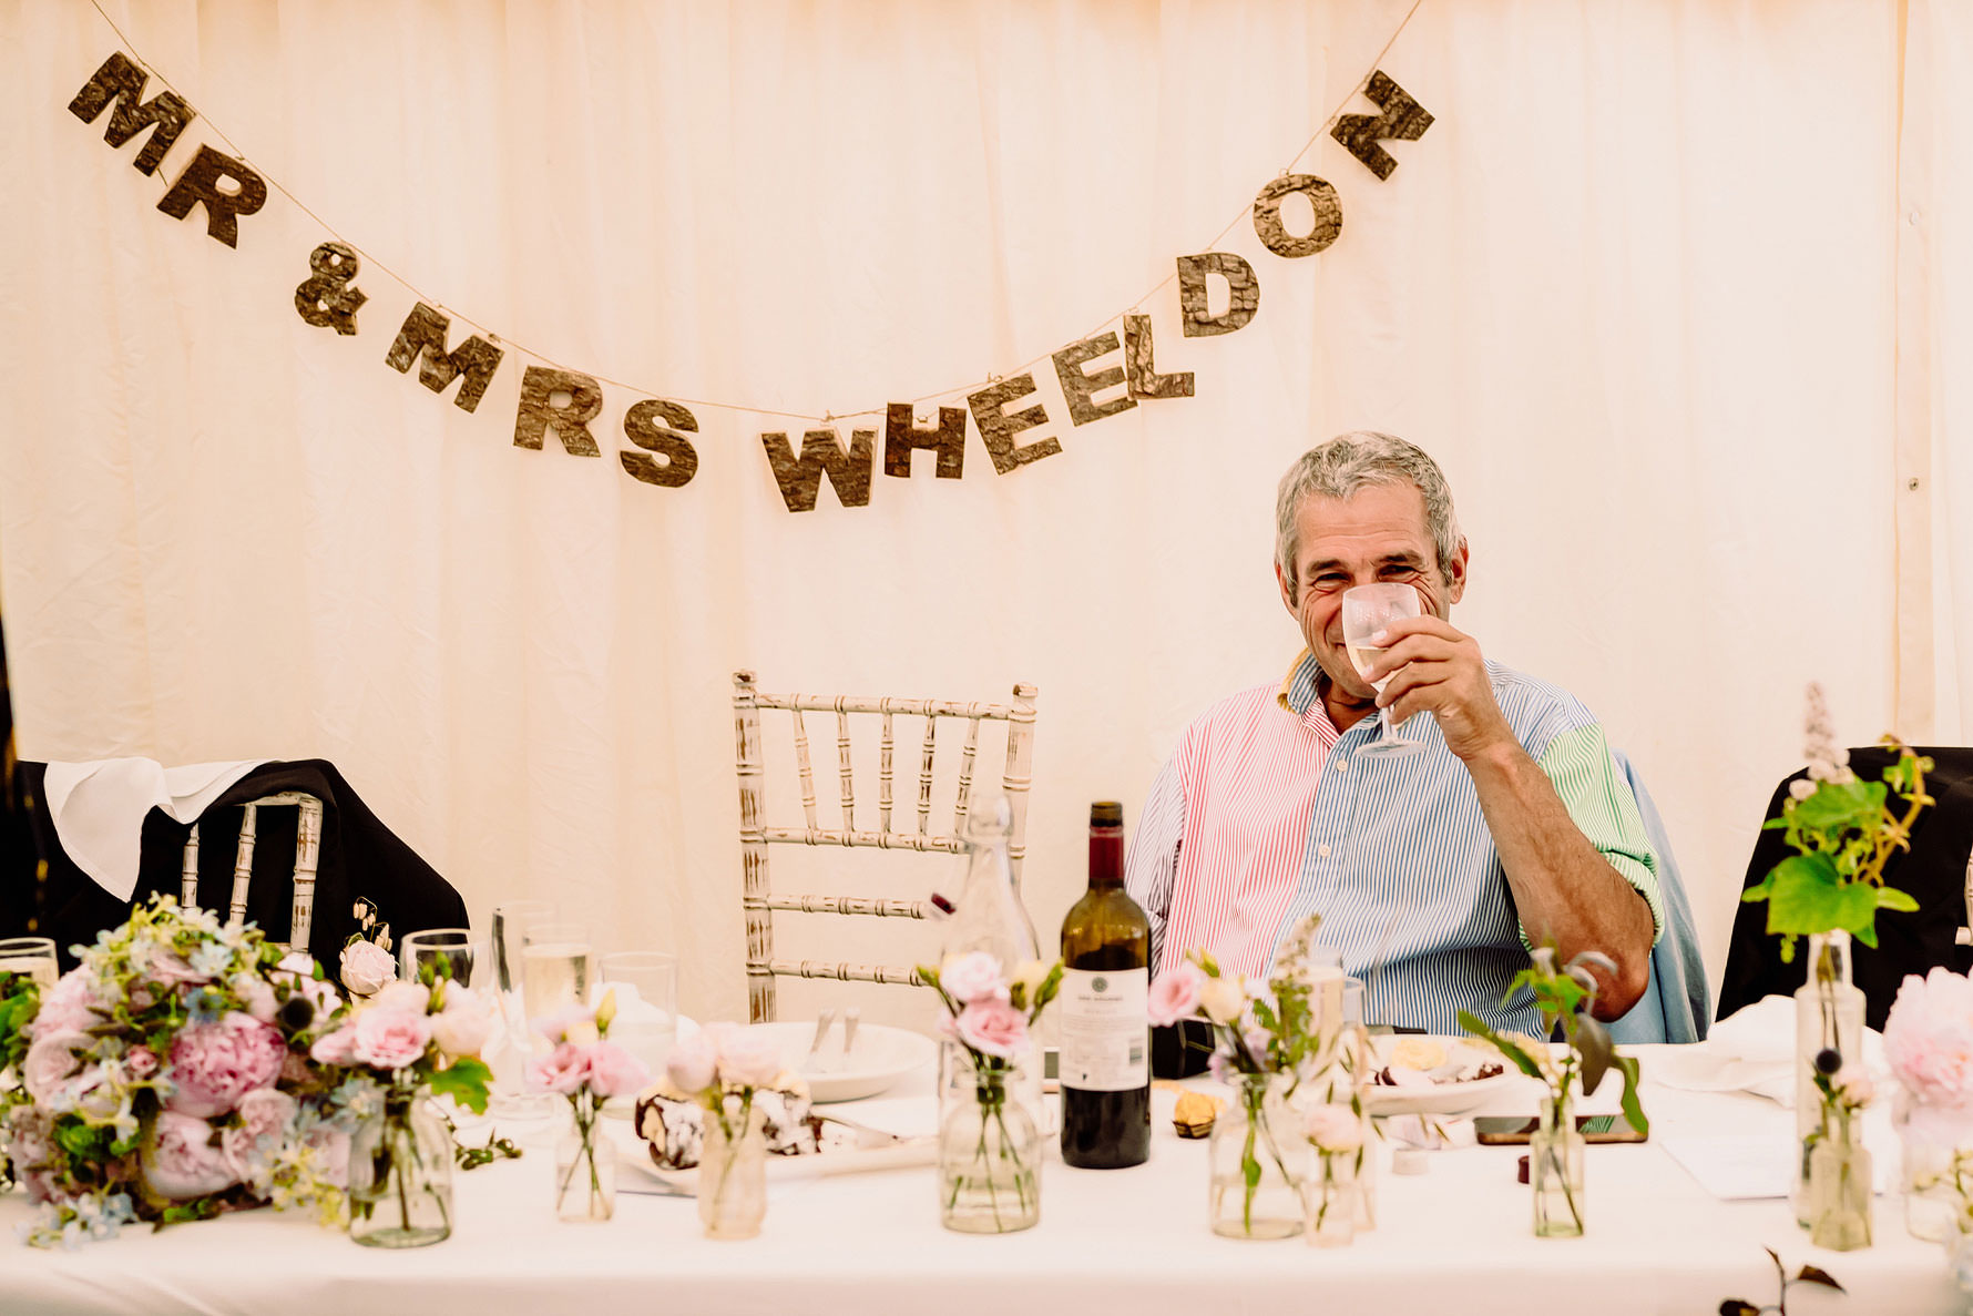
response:
[[[349,1237],[424,1247],[452,1235],[452,1133],[430,1099],[393,1091],[349,1138]]]

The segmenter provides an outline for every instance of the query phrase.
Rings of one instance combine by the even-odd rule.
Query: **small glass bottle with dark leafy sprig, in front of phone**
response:
[[[1638,1133],[1647,1133],[1651,1121],[1638,1103],[1638,1060],[1618,1056],[1610,1030],[1590,1012],[1596,1006],[1596,977],[1590,965],[1614,975],[1616,963],[1600,951],[1582,951],[1557,969],[1553,945],[1537,947],[1531,959],[1533,963],[1507,985],[1501,1004],[1511,1002],[1523,988],[1533,992],[1535,1008],[1541,1010],[1541,1036],[1553,1038],[1557,1026],[1563,1030],[1559,1058],[1551,1044],[1525,1034],[1498,1032],[1470,1010],[1460,1010],[1458,1018],[1460,1028],[1549,1089],[1543,1129],[1529,1138],[1527,1178],[1535,1188],[1535,1231],[1571,1237],[1582,1233],[1582,1136],[1569,1117],[1574,1085],[1580,1081],[1584,1095],[1594,1093],[1602,1087],[1604,1075],[1616,1069],[1624,1075],[1624,1121]]]

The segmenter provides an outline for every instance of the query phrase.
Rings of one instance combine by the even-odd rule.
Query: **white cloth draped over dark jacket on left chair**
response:
[[[229,785],[264,762],[164,768],[152,758],[99,758],[49,764],[41,793],[61,848],[75,866],[116,900],[130,900],[144,815],[164,809],[180,823],[193,823]]]

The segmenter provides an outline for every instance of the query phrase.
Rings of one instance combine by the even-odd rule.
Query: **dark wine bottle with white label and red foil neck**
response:
[[[1150,1156],[1150,919],[1123,890],[1123,805],[1089,805],[1089,890],[1061,921],[1061,1160]]]

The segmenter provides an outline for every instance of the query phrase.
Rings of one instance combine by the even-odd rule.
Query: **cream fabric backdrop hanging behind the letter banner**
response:
[[[963,481],[919,458],[866,509],[825,489],[811,515],[781,507],[758,438],[799,422],[698,406],[696,479],[653,489],[612,456],[623,408],[842,412],[1012,373],[1207,249],[1407,6],[107,8],[203,118],[142,178],[65,110],[114,47],[95,10],[0,4],[0,586],[26,758],[326,756],[475,912],[554,896],[608,941],[677,949],[689,1010],[736,1014],[734,667],[1040,685],[1046,931],[1087,801],[1134,819],[1188,718],[1279,679],[1275,479],[1359,426],[1452,477],[1474,545],[1454,621],[1642,766],[1715,975],[1762,805],[1799,766],[1803,683],[1851,742],[1892,724],[1910,345],[1888,0],[1426,0],[1381,67],[1430,132],[1393,144],[1389,182],[1328,138],[1304,162],[1342,239],[1284,260],[1241,221],[1221,249],[1255,262],[1261,312],[1225,337],[1182,339],[1170,286],[1142,302],[1196,399],[1069,428],[1044,363],[1061,456],[1000,477],[971,438]],[[1947,85],[1959,37],[1934,53]],[[207,120],[365,253],[359,335],[296,318],[326,233],[280,195],[239,251],[154,209]],[[1945,136],[1967,124],[1941,126],[1941,207],[1967,203]],[[1934,256],[1963,337],[1963,253]],[[387,369],[412,294],[385,266],[509,345],[647,385],[606,389],[608,460],[511,446],[521,353],[475,414]],[[1934,422],[1963,430],[1963,343],[1928,351]],[[1924,430],[1939,468],[1943,434]],[[1914,736],[1963,736],[1947,641],[1973,598],[1951,584],[1918,586],[1941,698]]]

